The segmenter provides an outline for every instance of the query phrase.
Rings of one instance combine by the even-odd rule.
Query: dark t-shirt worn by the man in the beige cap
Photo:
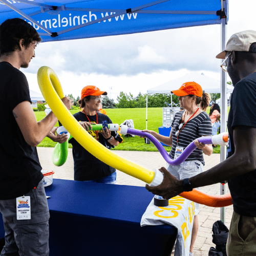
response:
[[[230,149],[234,154],[233,129],[237,125],[256,127],[256,73],[240,80],[234,87],[228,115]],[[256,217],[256,170],[228,180],[234,211]]]

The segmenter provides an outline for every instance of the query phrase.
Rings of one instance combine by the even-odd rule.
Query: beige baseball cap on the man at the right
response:
[[[227,41],[226,49],[219,53],[216,58],[225,59],[228,51],[249,52],[253,42],[256,42],[256,31],[254,30],[245,30],[233,34]]]

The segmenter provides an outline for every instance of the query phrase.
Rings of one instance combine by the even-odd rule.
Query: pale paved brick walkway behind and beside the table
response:
[[[52,153],[54,148],[49,147],[37,147],[39,160],[43,169],[53,170],[55,172],[55,179],[74,180],[73,174],[73,157],[72,149],[69,148],[69,155],[66,163],[60,167],[56,167],[52,163]],[[116,154],[132,160],[142,166],[149,169],[160,168],[165,166],[165,161],[158,152],[138,152],[138,151],[115,151]],[[204,170],[211,168],[212,166],[220,163],[220,154],[212,154],[211,156],[205,156]],[[133,186],[145,186],[143,181],[140,181],[134,177],[124,174],[117,170],[117,183],[121,185],[133,185]],[[226,193],[228,193],[228,187],[226,185]],[[201,190],[210,195],[220,195],[220,184],[210,185],[202,187]],[[233,207],[232,205],[226,207],[226,226],[229,228]],[[194,256],[208,256],[208,252],[211,246],[215,247],[212,243],[212,224],[215,221],[220,220],[220,208],[212,208],[205,205],[200,205],[199,218],[199,231],[194,248]]]

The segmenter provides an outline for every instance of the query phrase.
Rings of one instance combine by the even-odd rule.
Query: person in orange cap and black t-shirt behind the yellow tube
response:
[[[78,101],[81,111],[73,116],[89,134],[106,148],[112,148],[122,142],[117,132],[111,132],[108,127],[101,131],[89,131],[91,123],[99,123],[106,120],[112,123],[110,118],[99,113],[101,95],[107,95],[96,86],[86,86],[81,91],[81,99]],[[91,153],[85,150],[74,138],[70,139],[74,158],[74,180],[90,181],[98,183],[116,183],[116,169],[103,163]]]

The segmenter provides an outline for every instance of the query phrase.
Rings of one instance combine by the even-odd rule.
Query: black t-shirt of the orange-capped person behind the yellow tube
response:
[[[106,120],[108,123],[112,123],[110,118],[104,114],[97,113],[98,115],[98,123]],[[87,115],[90,122],[97,122],[97,116],[89,116]],[[74,114],[74,117],[77,121],[87,121],[89,122],[86,114],[83,112],[78,112]],[[96,131],[89,131],[89,134],[96,138]],[[122,142],[122,138],[116,132],[111,132],[111,135]],[[98,141],[104,145],[106,148],[114,147],[108,141],[104,139],[104,137],[98,132]],[[115,172],[115,168],[109,166],[108,164],[103,163],[96,157],[94,157],[91,153],[85,150],[74,138],[70,139],[69,142],[72,144],[73,149],[73,158],[74,158],[74,180],[95,180],[104,178],[109,176]]]

